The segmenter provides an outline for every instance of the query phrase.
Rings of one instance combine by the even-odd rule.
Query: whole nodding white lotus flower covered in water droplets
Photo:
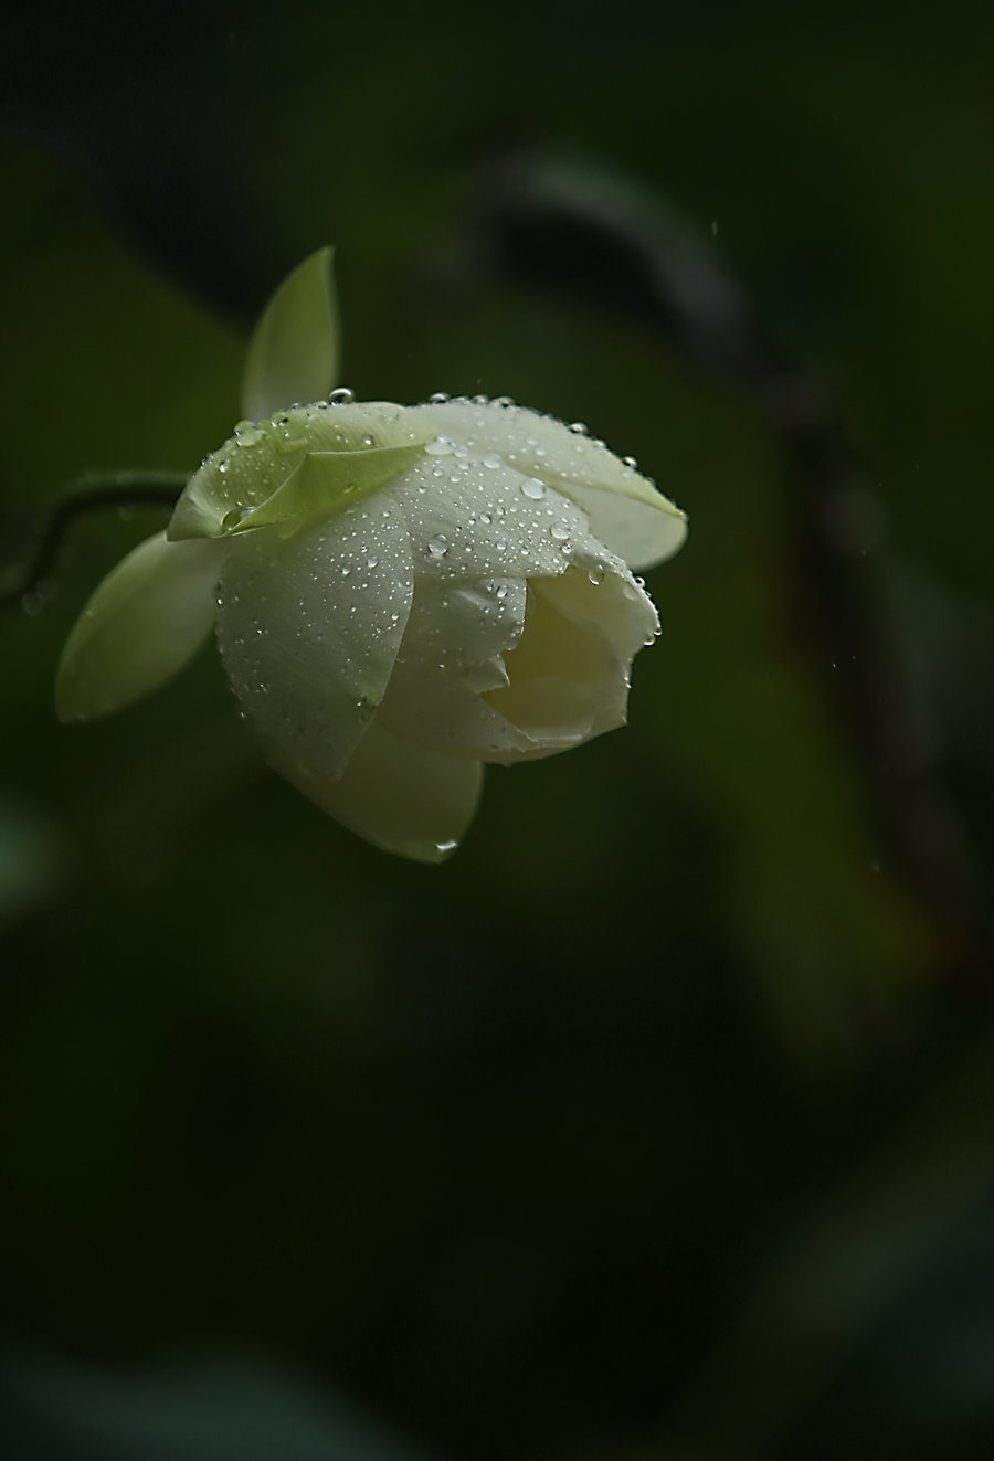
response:
[[[675,552],[686,520],[582,428],[510,402],[329,402],[329,266],[323,250],[273,297],[247,419],[98,587],[57,709],[127,704],[216,625],[276,770],[377,846],[436,862],[484,763],[624,723],[631,659],[659,628],[631,568]]]

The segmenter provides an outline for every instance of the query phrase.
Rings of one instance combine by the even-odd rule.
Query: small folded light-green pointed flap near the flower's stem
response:
[[[248,510],[231,532],[244,533],[253,527],[329,516],[383,487],[422,456],[420,444],[367,451],[311,451],[284,485]]]

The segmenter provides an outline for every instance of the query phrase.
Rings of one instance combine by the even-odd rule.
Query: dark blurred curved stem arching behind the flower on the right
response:
[[[990,973],[990,893],[937,773],[931,717],[890,592],[883,514],[827,392],[781,355],[709,240],[593,169],[526,152],[498,159],[472,250],[478,269],[633,317],[744,397],[779,441],[801,619],[832,668],[881,831],[944,929],[953,969]]]

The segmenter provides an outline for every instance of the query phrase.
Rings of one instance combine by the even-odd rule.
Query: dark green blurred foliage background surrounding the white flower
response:
[[[960,3],[15,6],[12,564],[80,470],[228,434],[247,324],[325,241],[361,396],[586,419],[691,535],[650,576],[629,729],[491,771],[441,871],[269,774],[210,655],[54,723],[75,615],[161,511],[77,523],[6,615],[6,1454],[153,1454],[94,1414],[151,1394],[158,1433],[186,1411],[155,1366],[209,1349],[314,1378],[330,1420],[276,1407],[301,1457],[390,1454],[336,1439],[338,1392],[452,1457],[990,1455],[990,967],[880,824],[782,444],[617,281],[542,288],[487,219],[520,158],[630,186],[826,384],[979,866],[993,29]],[[200,1375],[213,1449],[164,1457],[231,1455],[259,1414],[251,1367]]]

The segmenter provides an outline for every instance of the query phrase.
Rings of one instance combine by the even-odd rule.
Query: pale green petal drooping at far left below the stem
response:
[[[221,545],[146,539],[108,573],[69,636],[60,720],[94,720],[155,690],[210,633]]]

